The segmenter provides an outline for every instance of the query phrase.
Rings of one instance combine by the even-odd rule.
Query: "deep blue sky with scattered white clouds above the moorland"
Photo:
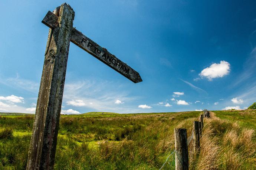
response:
[[[243,109],[256,102],[255,1],[66,1],[73,26],[138,71],[70,43],[62,113]],[[1,1],[0,112],[35,113],[49,28],[64,1]]]

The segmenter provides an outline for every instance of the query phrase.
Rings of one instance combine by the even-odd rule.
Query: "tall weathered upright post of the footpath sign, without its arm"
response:
[[[50,28],[30,141],[27,170],[53,169],[59,116],[75,13],[66,3],[56,8],[58,27]]]

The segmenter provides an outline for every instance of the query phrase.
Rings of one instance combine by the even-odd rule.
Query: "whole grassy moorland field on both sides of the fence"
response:
[[[174,150],[174,128],[186,128],[191,136],[193,120],[200,114],[62,115],[55,169],[160,169]],[[212,115],[204,119],[199,156],[189,152],[190,169],[256,169],[255,111]],[[0,116],[0,169],[25,169],[33,118]],[[163,169],[174,169],[174,164],[170,157]]]

